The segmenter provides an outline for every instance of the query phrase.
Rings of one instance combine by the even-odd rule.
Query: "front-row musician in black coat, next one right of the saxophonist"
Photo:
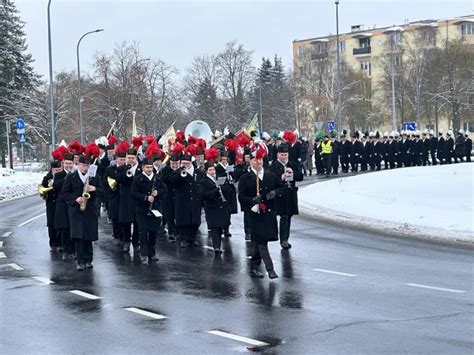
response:
[[[158,261],[156,236],[161,230],[163,202],[166,185],[157,173],[153,173],[153,157],[146,157],[142,173],[133,178],[132,198],[135,200],[135,216],[140,235],[140,260],[142,264]]]

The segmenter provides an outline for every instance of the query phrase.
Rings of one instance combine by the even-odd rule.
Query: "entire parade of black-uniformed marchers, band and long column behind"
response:
[[[212,133],[207,123],[174,125],[159,136],[106,136],[82,145],[62,141],[38,187],[46,201],[51,253],[75,260],[78,271],[93,268],[99,219],[111,224],[118,253],[159,261],[157,238],[177,248],[200,246],[205,220],[216,256],[230,238],[232,216],[243,213],[251,243],[250,276],[277,278],[268,243],[292,247],[292,216],[298,215],[298,187],[305,176],[377,171],[470,162],[469,132],[348,132],[316,134],[314,143],[297,131],[259,132],[255,122],[232,133]],[[103,213],[101,213],[103,211]],[[204,218],[203,218],[204,217]]]

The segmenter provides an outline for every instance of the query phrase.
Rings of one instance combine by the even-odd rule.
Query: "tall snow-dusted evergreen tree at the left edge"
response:
[[[22,107],[31,98],[39,77],[26,53],[24,22],[11,0],[0,3],[0,135],[5,136],[5,120],[25,115]],[[1,142],[5,166],[6,141]]]

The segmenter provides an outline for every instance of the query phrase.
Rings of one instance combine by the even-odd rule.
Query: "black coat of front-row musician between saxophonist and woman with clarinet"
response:
[[[153,190],[158,191],[153,204],[148,202],[148,196]],[[158,232],[161,228],[161,217],[151,214],[151,210],[158,210],[163,214],[163,205],[167,188],[159,175],[148,179],[143,173],[135,176],[132,183],[132,198],[135,201],[135,216],[140,232]],[[151,205],[151,207],[150,207]]]

